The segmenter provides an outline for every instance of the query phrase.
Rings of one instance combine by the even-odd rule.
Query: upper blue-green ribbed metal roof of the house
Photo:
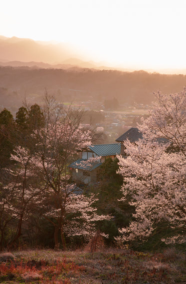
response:
[[[121,153],[120,143],[91,145],[88,148],[98,156],[112,156]]]

